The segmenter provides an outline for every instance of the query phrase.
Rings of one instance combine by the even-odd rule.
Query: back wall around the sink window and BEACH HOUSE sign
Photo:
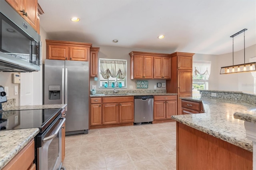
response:
[[[112,47],[112,46],[103,46],[103,45],[92,45],[93,47],[100,47],[100,51],[98,53],[98,58],[107,58],[107,59],[126,59],[127,60],[127,88],[122,88],[120,90],[130,90],[129,86],[132,85],[133,89],[136,90],[136,79],[130,79],[130,55],[131,51],[143,51],[143,52],[153,52],[153,53],[173,53],[173,51],[161,51],[161,50],[153,50],[153,49],[138,49],[138,48],[125,48],[125,47]],[[148,90],[154,90],[154,85],[156,83],[165,83],[166,80],[150,80],[148,79]],[[96,90],[113,90],[113,89],[104,89],[98,88],[99,81],[94,81],[94,78],[90,79],[90,89],[92,89],[92,85],[96,85]],[[156,90],[166,89],[166,87],[157,87]]]

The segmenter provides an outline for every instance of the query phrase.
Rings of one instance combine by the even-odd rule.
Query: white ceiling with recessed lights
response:
[[[52,40],[204,54],[256,44],[256,0],[38,0]],[[76,16],[80,22],[71,22]],[[164,39],[158,39],[164,34]],[[117,39],[118,43],[112,40]],[[234,51],[244,36],[234,37]]]

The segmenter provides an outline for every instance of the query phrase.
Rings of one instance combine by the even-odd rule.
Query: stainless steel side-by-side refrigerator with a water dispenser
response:
[[[89,62],[46,59],[44,104],[67,104],[66,135],[88,133]]]

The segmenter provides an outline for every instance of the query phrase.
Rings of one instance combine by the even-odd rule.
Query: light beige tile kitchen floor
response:
[[[175,170],[176,122],[66,136],[66,170]]]

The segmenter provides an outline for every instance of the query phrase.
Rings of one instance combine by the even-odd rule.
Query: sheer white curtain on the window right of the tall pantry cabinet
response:
[[[206,75],[209,78],[211,73],[211,61],[193,61],[193,75]]]

